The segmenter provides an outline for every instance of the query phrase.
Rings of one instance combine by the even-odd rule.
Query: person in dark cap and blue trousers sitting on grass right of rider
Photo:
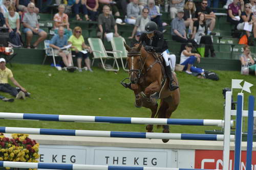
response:
[[[199,78],[204,78],[204,71],[201,68],[194,67],[195,60],[200,63],[201,56],[197,53],[191,53],[193,45],[191,43],[186,44],[185,50],[180,55],[180,65],[184,65],[183,70],[191,75],[192,72],[200,74]]]

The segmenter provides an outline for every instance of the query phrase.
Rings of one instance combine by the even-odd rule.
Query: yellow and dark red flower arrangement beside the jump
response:
[[[28,136],[28,134],[12,134],[12,138],[9,139],[0,133],[0,161],[38,162],[39,143]],[[6,167],[6,169],[10,168]]]

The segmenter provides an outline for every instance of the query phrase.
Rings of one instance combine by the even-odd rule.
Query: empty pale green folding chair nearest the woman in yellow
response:
[[[119,70],[119,66],[118,66],[117,58],[116,58],[116,52],[106,51],[105,47],[102,43],[102,40],[100,38],[88,38],[88,42],[93,51],[92,65],[93,65],[95,59],[100,59],[104,70],[106,70],[106,71],[118,71]],[[113,54],[114,57],[108,56],[108,54]],[[112,68],[105,67],[105,62],[107,59],[114,60]],[[115,64],[117,66],[117,69],[114,69]]]

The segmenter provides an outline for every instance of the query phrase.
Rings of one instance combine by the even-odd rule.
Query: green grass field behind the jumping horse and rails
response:
[[[9,67],[9,65],[7,65]],[[10,68],[10,67],[9,67]],[[150,117],[150,110],[134,107],[134,94],[120,85],[127,77],[123,70],[118,74],[94,68],[89,71],[70,73],[58,71],[50,66],[14,64],[11,68],[14,78],[25,87],[31,98],[0,102],[1,112],[44,113],[91,116]],[[231,79],[244,79],[256,84],[254,76],[242,76],[238,71],[216,71],[219,81],[197,79],[184,72],[178,72],[181,102],[172,118],[223,119],[222,89],[231,86]],[[242,83],[243,85],[243,83]],[[241,91],[241,90],[240,90]],[[251,87],[255,95],[256,87]],[[233,94],[239,90],[234,90]],[[11,96],[0,92],[8,98]],[[245,92],[245,101],[249,94]],[[247,103],[245,105],[247,110]],[[144,132],[145,125],[35,122],[21,120],[0,120],[1,126],[111,130]],[[218,127],[171,126],[173,133],[204,133],[204,130]],[[161,132],[161,129],[154,130]]]

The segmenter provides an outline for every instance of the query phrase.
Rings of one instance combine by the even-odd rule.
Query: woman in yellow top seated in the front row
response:
[[[72,44],[71,51],[72,55],[75,55],[77,58],[77,65],[78,65],[78,71],[82,72],[81,64],[82,64],[82,58],[84,59],[84,63],[86,63],[86,66],[88,67],[88,70],[93,72],[91,66],[90,66],[90,59],[88,53],[84,54],[82,52],[85,52],[86,50],[92,53],[91,47],[87,46],[84,43],[84,39],[82,36],[82,29],[80,27],[75,27],[73,30],[73,35],[68,40],[69,44]]]

